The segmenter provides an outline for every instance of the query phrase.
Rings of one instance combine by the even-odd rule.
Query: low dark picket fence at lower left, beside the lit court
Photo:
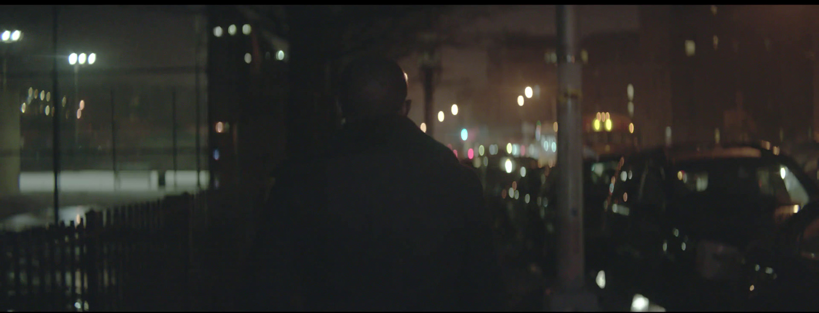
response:
[[[166,197],[0,233],[0,311],[189,310],[190,227],[204,198]]]

